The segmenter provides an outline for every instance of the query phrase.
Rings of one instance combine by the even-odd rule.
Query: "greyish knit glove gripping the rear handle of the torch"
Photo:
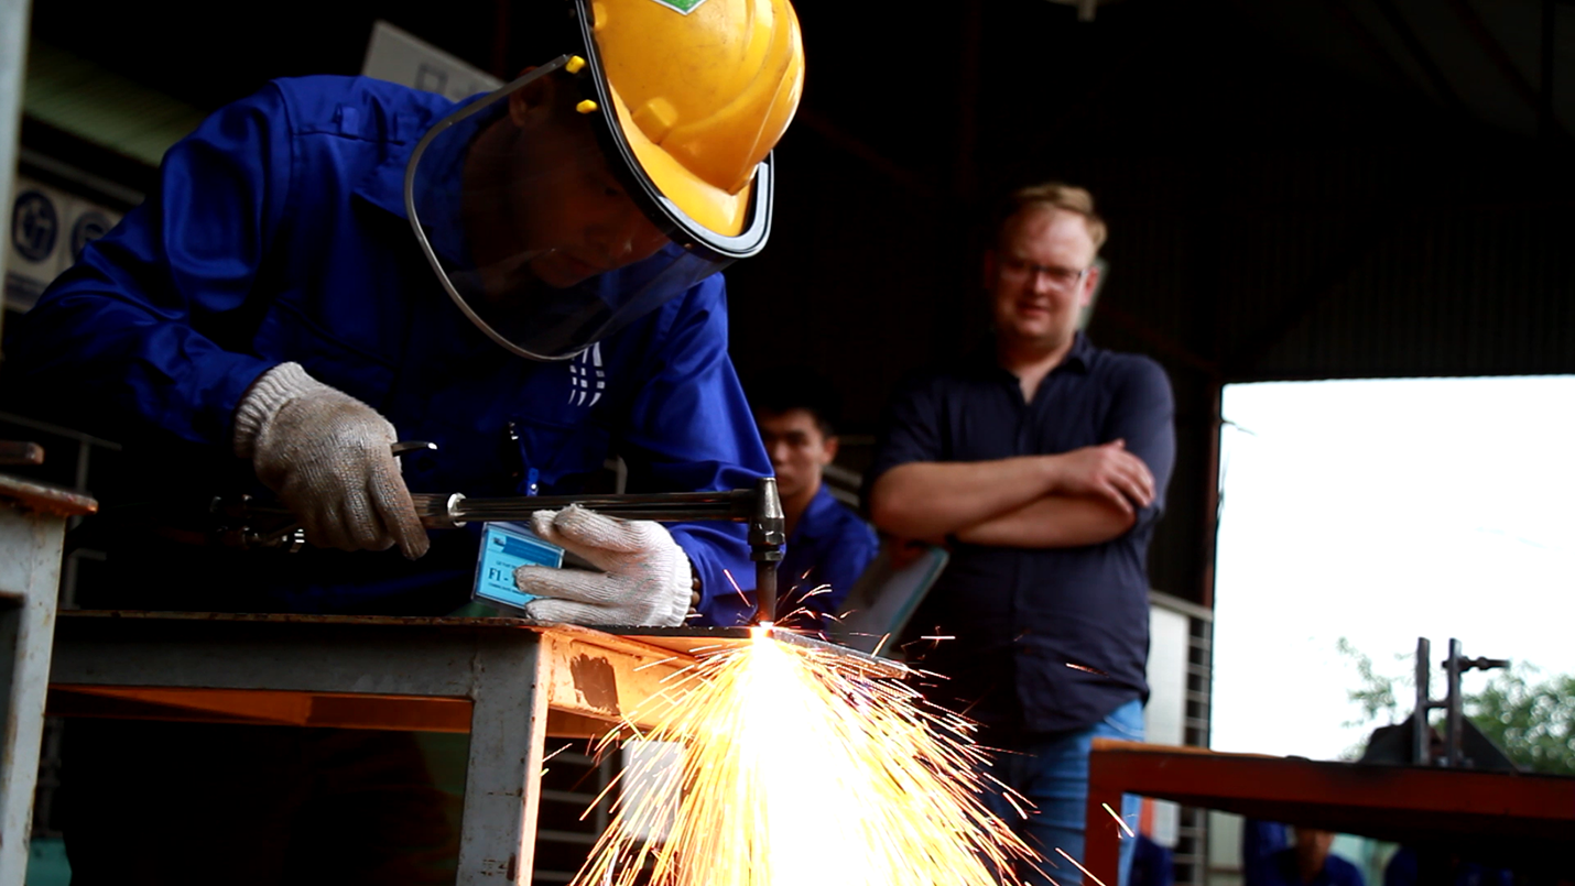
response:
[[[250,458],[306,529],[306,540],[340,551],[427,552],[410,489],[391,447],[394,425],[299,364],[263,373],[235,411],[235,453]]]

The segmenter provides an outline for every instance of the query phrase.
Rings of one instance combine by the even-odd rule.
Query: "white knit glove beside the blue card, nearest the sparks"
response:
[[[545,598],[524,604],[531,618],[660,628],[684,623],[693,574],[688,556],[660,522],[617,519],[570,505],[561,511],[536,511],[531,529],[605,570],[520,567],[513,571],[513,584]]]

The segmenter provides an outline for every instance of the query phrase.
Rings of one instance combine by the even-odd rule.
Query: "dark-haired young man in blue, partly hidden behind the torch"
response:
[[[825,485],[839,445],[836,389],[810,370],[784,368],[751,379],[747,390],[786,518],[788,549],[776,567],[780,620],[830,628],[880,552],[876,530]]]

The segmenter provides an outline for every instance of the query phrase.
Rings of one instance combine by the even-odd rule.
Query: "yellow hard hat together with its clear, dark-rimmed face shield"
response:
[[[559,55],[432,124],[405,209],[482,332],[562,360],[765,245],[803,44],[789,0],[547,9]]]

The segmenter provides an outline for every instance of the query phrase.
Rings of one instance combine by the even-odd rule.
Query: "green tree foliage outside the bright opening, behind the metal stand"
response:
[[[1361,686],[1347,691],[1347,696],[1361,705],[1362,718],[1345,725],[1377,725],[1380,719],[1395,724],[1410,716],[1411,705],[1402,710],[1395,697],[1397,685],[1414,685],[1410,674],[1380,674],[1372,658],[1351,647],[1345,637],[1340,637],[1336,648],[1356,664],[1361,680]],[[1395,658],[1410,661],[1410,656]],[[1539,675],[1531,664],[1492,672],[1482,691],[1462,692],[1465,714],[1515,765],[1534,773],[1575,776],[1575,675],[1537,680]],[[1441,692],[1440,685],[1435,697]],[[1408,700],[1411,696],[1414,689],[1405,692]],[[1358,754],[1359,749],[1353,749],[1345,755]]]

